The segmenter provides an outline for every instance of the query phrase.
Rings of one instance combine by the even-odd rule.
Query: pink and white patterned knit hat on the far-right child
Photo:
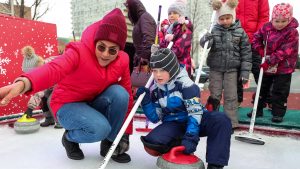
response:
[[[289,22],[293,17],[293,7],[289,3],[280,3],[274,6],[272,19],[288,19]]]

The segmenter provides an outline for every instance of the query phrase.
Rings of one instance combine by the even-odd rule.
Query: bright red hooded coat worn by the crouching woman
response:
[[[52,93],[50,107],[54,115],[66,103],[92,101],[97,95],[114,84],[123,86],[128,94],[128,113],[133,105],[131,91],[129,57],[119,51],[117,58],[106,67],[101,67],[95,55],[94,36],[101,20],[88,26],[80,42],[71,42],[65,52],[42,67],[38,73],[26,73],[31,82],[31,90],[36,93],[57,84]],[[44,80],[47,79],[47,80]],[[84,113],[84,112],[82,112]],[[132,124],[126,133],[132,133]]]

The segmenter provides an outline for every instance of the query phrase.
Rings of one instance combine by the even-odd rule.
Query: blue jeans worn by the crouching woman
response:
[[[112,85],[91,102],[73,102],[57,112],[59,123],[68,130],[67,139],[76,143],[113,141],[128,109],[129,94],[120,85]]]

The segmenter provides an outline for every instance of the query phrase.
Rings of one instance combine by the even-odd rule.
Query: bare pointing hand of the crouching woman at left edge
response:
[[[6,106],[10,100],[20,95],[24,90],[25,84],[23,81],[17,81],[11,85],[0,88],[0,106]]]

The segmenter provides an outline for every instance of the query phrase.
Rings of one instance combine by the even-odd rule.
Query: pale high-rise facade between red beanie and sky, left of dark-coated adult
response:
[[[101,19],[113,8],[125,10],[124,0],[71,0],[72,26],[75,36],[90,24]]]

